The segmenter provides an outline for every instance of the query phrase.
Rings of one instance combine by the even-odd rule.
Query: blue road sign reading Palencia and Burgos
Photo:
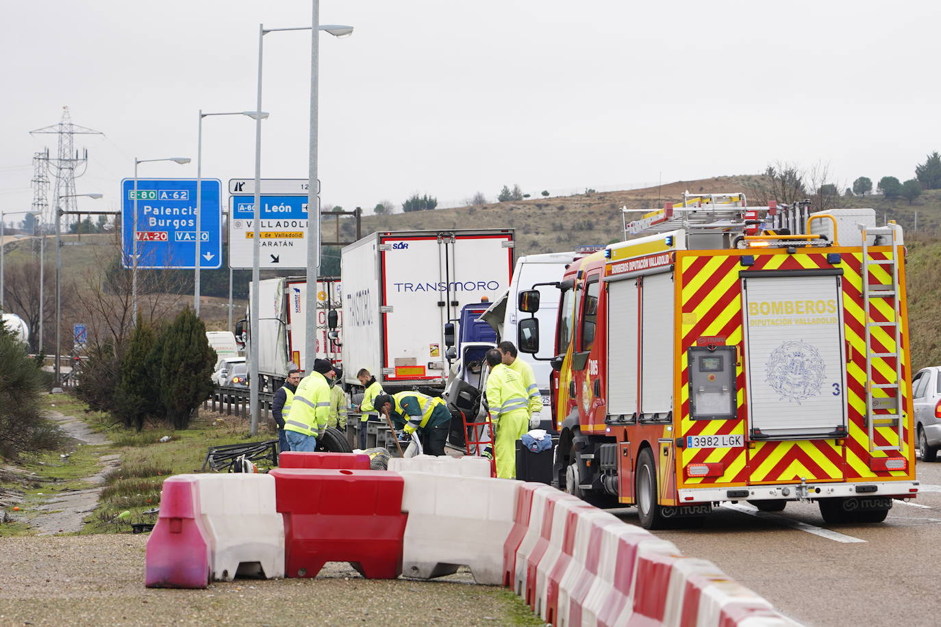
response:
[[[222,265],[222,203],[218,179],[202,180],[199,203],[199,267]],[[134,231],[134,179],[121,180],[122,261],[137,267],[193,269],[196,267],[196,179],[138,179],[137,232]]]

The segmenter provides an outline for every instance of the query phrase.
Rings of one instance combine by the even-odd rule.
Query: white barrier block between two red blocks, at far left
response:
[[[275,478],[250,473],[188,477],[199,482],[213,579],[283,577],[284,520],[275,509]]]

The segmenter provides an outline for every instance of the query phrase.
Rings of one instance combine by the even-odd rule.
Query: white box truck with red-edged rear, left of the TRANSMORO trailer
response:
[[[307,342],[307,279],[279,277],[259,282],[258,371],[265,377],[283,380],[288,369],[306,367]],[[337,330],[343,327],[343,298],[339,279],[321,277],[317,280],[317,356],[340,363],[340,346],[327,337],[327,313],[337,311]],[[248,284],[248,308],[251,312],[251,284]],[[240,322],[243,324],[244,321]],[[238,327],[237,327],[238,329]],[[236,330],[236,335],[240,335]],[[247,334],[248,342],[252,334]],[[248,347],[246,354],[250,354]],[[295,366],[292,366],[294,364]]]

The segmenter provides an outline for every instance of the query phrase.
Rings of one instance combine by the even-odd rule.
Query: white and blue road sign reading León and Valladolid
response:
[[[261,196],[260,268],[307,268],[307,196]],[[229,198],[229,266],[252,267],[255,196]]]

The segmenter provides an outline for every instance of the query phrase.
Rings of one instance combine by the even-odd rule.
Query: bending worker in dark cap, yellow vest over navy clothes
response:
[[[396,392],[380,394],[374,400],[375,409],[388,415],[396,427],[406,433],[418,431],[425,455],[444,455],[444,443],[448,440],[451,412],[444,400],[421,392]]]

